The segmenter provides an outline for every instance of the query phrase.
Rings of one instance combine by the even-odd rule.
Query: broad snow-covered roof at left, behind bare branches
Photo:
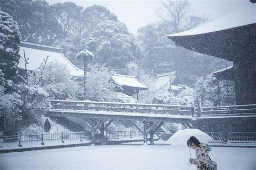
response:
[[[46,59],[46,56],[49,56],[47,62],[58,61],[59,63],[62,63],[63,65],[68,67],[70,75],[83,76],[84,74],[82,69],[77,68],[62,53],[60,53],[60,48],[32,44],[29,42],[21,42],[21,44],[19,44],[19,48],[19,54],[21,55],[18,64],[19,68],[25,69],[25,60],[23,55],[24,50],[26,58],[29,58],[29,64],[26,65],[26,68],[28,70],[37,69],[40,66],[40,64],[44,62],[43,59]]]

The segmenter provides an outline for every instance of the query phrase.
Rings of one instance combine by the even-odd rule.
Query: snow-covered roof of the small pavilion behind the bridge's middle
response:
[[[112,77],[113,81],[120,86],[136,87],[136,88],[142,88],[145,90],[147,88],[149,88],[149,87],[143,85],[142,83],[138,82],[138,80],[135,78],[135,76],[112,74],[111,77]]]

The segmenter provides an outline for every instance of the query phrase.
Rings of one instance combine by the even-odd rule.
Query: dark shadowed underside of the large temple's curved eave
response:
[[[192,34],[186,36],[167,36],[181,46],[199,53],[217,56],[226,60],[237,58],[253,59],[255,55],[256,24],[231,29]]]

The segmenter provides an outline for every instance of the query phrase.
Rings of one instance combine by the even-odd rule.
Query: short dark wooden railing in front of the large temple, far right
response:
[[[199,112],[201,116],[256,115],[256,104],[202,107]]]

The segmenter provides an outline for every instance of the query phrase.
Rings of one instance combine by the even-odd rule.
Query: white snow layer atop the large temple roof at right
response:
[[[248,3],[251,2],[248,1]],[[254,24],[256,23],[255,10],[256,6],[254,4],[248,5],[246,7],[241,6],[241,8],[234,11],[233,13],[230,13],[221,18],[217,18],[210,23],[198,26],[188,31],[170,34],[167,37],[192,36]]]

